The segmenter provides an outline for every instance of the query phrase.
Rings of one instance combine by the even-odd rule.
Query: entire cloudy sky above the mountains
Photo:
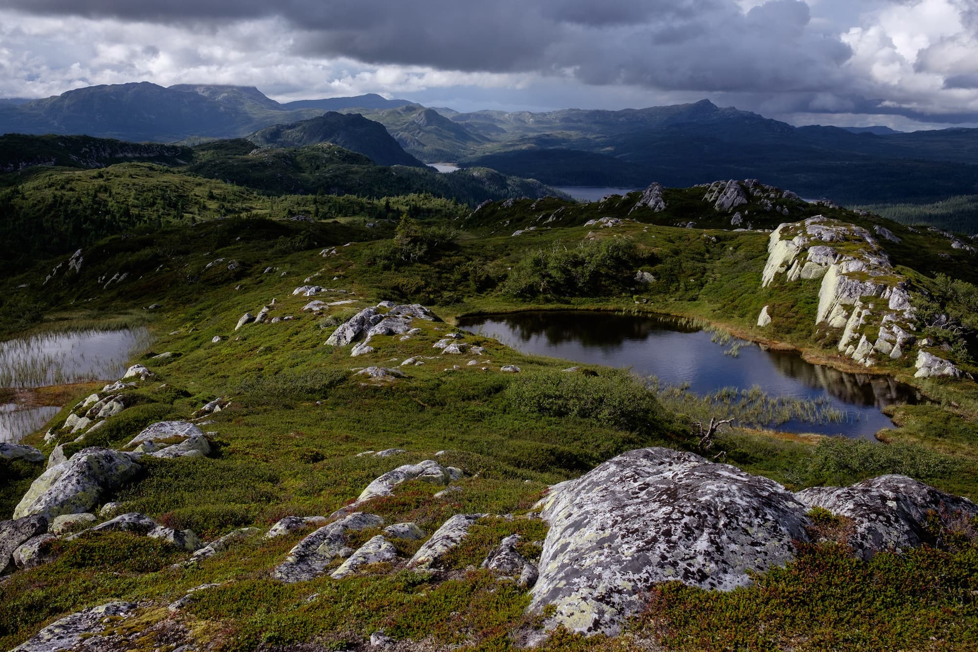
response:
[[[978,0],[0,0],[0,97],[132,81],[978,126]]]

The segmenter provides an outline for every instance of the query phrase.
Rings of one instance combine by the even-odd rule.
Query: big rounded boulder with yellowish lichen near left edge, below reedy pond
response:
[[[35,480],[14,509],[14,518],[91,511],[102,494],[121,487],[142,467],[130,454],[110,448],[83,448]]]

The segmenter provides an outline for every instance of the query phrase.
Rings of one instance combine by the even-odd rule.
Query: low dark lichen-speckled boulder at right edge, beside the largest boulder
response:
[[[863,559],[880,550],[902,552],[927,536],[928,512],[978,516],[978,505],[907,476],[880,476],[852,487],[814,487],[797,494],[810,507],[822,507],[853,521],[849,545]]]

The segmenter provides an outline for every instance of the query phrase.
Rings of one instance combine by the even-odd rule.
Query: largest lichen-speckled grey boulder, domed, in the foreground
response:
[[[641,448],[562,483],[541,501],[551,525],[531,609],[553,625],[617,634],[655,582],[730,590],[793,557],[807,507],[778,483],[689,452]]]

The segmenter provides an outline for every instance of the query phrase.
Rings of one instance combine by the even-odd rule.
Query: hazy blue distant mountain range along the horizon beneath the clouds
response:
[[[366,121],[354,128],[335,116],[319,120],[327,111],[379,122],[406,154]],[[333,142],[378,163],[460,163],[551,185],[684,187],[760,178],[805,197],[867,204],[978,194],[978,129],[795,127],[707,100],[622,111],[459,113],[378,95],[280,104],[251,87],[134,83],[0,102],[0,132],[189,144],[248,136],[269,147]]]

